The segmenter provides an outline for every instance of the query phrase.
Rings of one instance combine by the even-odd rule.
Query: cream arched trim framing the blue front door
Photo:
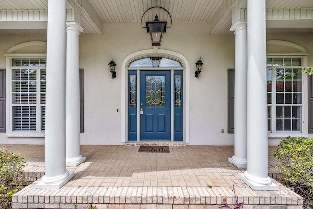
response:
[[[141,50],[126,56],[121,65],[121,142],[128,142],[128,64],[140,57],[160,56],[178,59],[183,68],[183,142],[190,143],[190,65],[185,56],[178,52],[158,49],[157,53],[153,49]],[[133,69],[134,70],[134,69]],[[173,70],[171,70],[171,79]],[[138,81],[137,81],[138,82]],[[172,82],[172,81],[171,81]],[[172,88],[172,87],[171,87]],[[172,108],[172,107],[171,107]],[[172,121],[172,118],[171,118]],[[172,125],[171,125],[172,126]],[[172,130],[171,130],[172,132]],[[171,133],[172,135],[172,133]],[[138,139],[139,141],[139,139]],[[172,141],[172,140],[171,140]],[[134,141],[136,142],[136,141]]]

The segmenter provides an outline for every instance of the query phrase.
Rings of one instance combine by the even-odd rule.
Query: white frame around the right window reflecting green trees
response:
[[[305,68],[308,66],[308,58],[307,56],[296,56],[296,55],[275,55],[275,56],[267,56],[267,58],[301,58],[301,68]],[[267,68],[288,68],[289,66],[267,66]],[[290,66],[292,68],[300,68],[298,66]],[[274,70],[273,70],[274,71]],[[308,75],[305,72],[302,72],[302,104],[301,107],[301,128],[300,131],[276,131],[276,88],[272,88],[272,104],[268,104],[268,106],[272,106],[271,108],[271,131],[268,131],[269,138],[284,138],[288,136],[292,137],[307,137],[308,136]],[[276,82],[276,79],[273,76],[273,83]],[[275,85],[276,86],[276,85]],[[274,96],[275,95],[275,96]],[[280,105],[278,105],[280,106]],[[281,105],[284,106],[284,105]],[[275,120],[275,121],[274,121]]]

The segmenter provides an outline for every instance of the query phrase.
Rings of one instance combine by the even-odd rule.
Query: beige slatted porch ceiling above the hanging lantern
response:
[[[157,0],[157,6],[169,11],[173,22],[206,22],[212,25],[211,33],[231,33],[231,7],[237,0]],[[140,22],[143,13],[156,5],[156,0],[67,0],[67,10],[77,4],[81,8],[82,34],[101,34],[102,23]],[[246,7],[245,3],[242,4]],[[47,11],[48,0],[1,0],[0,11]],[[312,0],[266,0],[268,9],[313,8]],[[147,18],[155,13],[160,20],[169,21],[166,12],[149,10]],[[214,20],[215,19],[215,20]],[[216,19],[220,23],[216,25]],[[0,17],[0,22],[1,22]],[[145,19],[143,19],[145,21]],[[98,28],[95,25],[98,24]],[[99,27],[100,25],[100,27]],[[215,27],[215,28],[213,28]],[[0,34],[46,34],[46,29],[20,30],[1,28]],[[34,28],[35,29],[35,28]]]

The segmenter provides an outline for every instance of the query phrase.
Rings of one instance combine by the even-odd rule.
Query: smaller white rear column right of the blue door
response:
[[[246,85],[247,32],[246,21],[238,21],[230,28],[235,31],[235,111],[234,155],[228,161],[246,168]]]

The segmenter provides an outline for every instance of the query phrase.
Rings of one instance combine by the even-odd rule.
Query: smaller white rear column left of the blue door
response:
[[[79,32],[76,22],[66,23],[66,166],[76,167],[86,160],[80,154]]]

